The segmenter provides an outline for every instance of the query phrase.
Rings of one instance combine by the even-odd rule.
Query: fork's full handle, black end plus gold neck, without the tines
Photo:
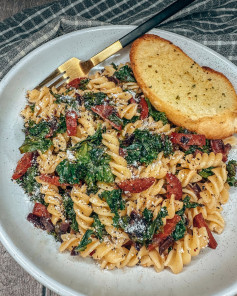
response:
[[[133,42],[138,37],[142,36],[144,33],[148,32],[156,25],[162,23],[164,20],[174,15],[176,12],[180,11],[182,8],[186,7],[195,0],[177,0],[170,6],[166,7],[162,11],[158,12],[152,18],[147,20],[145,23],[138,26],[136,29],[129,32],[127,35],[123,36],[121,39],[117,40],[110,46],[106,47],[101,52],[94,55],[90,60],[85,62],[80,62],[81,67],[84,69],[85,73],[88,73],[91,68],[98,65],[99,63],[106,60],[108,57],[112,56],[120,49],[124,48],[131,42]]]

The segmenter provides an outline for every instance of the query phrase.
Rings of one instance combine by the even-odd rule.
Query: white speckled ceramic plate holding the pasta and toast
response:
[[[27,222],[33,205],[19,186],[11,182],[20,158],[18,147],[24,135],[19,112],[25,105],[26,90],[32,89],[68,58],[87,59],[114,42],[132,26],[85,29],[54,39],[23,58],[0,84],[0,239],[13,258],[38,281],[67,295],[234,295],[237,292],[237,199],[231,189],[224,207],[226,229],[214,251],[205,249],[179,275],[169,270],[125,268],[101,271],[91,259],[59,254],[59,244]],[[214,51],[165,31],[154,34],[171,40],[201,65],[223,72],[237,89],[237,67]],[[107,64],[129,60],[129,48],[107,60]],[[106,64],[105,63],[105,64]],[[235,151],[233,152],[235,154]],[[235,155],[236,157],[236,155]]]

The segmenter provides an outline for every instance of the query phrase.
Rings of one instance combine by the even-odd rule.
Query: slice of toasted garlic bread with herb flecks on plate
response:
[[[237,95],[223,74],[201,67],[179,47],[152,34],[132,44],[130,60],[144,94],[174,124],[208,139],[237,131]]]

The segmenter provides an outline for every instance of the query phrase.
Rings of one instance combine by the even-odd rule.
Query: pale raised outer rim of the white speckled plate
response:
[[[57,43],[60,40],[63,40],[67,37],[73,37],[77,36],[78,33],[84,33],[84,32],[90,32],[90,31],[103,31],[103,30],[119,30],[119,29],[134,29],[137,26],[135,25],[103,25],[103,26],[95,26],[95,27],[89,27],[89,28],[84,28],[80,30],[76,30],[67,34],[64,34],[62,36],[56,37],[52,40],[49,40],[46,43],[41,44],[37,48],[33,49],[29,53],[27,53],[23,58],[21,58],[16,64],[14,64],[10,70],[7,72],[7,74],[4,75],[2,80],[0,81],[0,97],[2,94],[2,91],[8,82],[9,79],[11,79],[11,76],[14,75],[15,71],[20,68],[27,59],[30,59],[31,56],[37,55],[38,52],[42,50],[44,47],[48,47],[54,43]],[[154,34],[159,34],[159,33],[165,33],[169,37],[172,38],[172,36],[177,37],[179,39],[183,39],[187,42],[190,42],[192,44],[197,45],[199,48],[202,48],[206,51],[208,51],[210,54],[216,56],[218,59],[224,61],[229,67],[233,68],[234,71],[237,72],[237,66],[229,61],[226,57],[222,56],[221,54],[217,53],[215,50],[191,39],[183,35],[179,35],[177,33],[173,33],[170,31],[154,28],[148,33],[154,33]],[[237,91],[237,90],[236,90]],[[6,248],[8,253],[12,256],[12,258],[28,273],[30,274],[34,279],[36,279],[38,282],[40,282],[42,285],[46,286],[47,288],[51,289],[52,291],[58,293],[59,295],[63,296],[86,296],[85,294],[82,294],[80,292],[75,291],[74,289],[71,289],[69,286],[66,286],[64,284],[61,284],[60,282],[54,280],[52,277],[48,276],[45,274],[41,269],[37,267],[37,265],[33,264],[30,259],[28,259],[21,251],[18,250],[18,248],[15,246],[15,244],[11,241],[9,238],[7,232],[4,230],[2,226],[2,222],[0,220],[0,241],[3,244],[3,246]],[[223,293],[226,293],[225,295],[232,295],[232,293],[237,292],[237,281],[233,283],[231,286],[228,288],[225,288],[224,290],[221,290],[217,292],[215,295],[216,296],[221,296]],[[231,293],[231,294],[230,294]]]

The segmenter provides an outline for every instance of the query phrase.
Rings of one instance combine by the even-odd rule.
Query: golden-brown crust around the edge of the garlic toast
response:
[[[145,75],[144,71],[141,69],[141,63],[138,63],[139,55],[141,55],[141,44],[142,46],[150,46],[154,45],[154,42],[158,43],[165,43],[165,45],[171,46],[175,51],[178,51],[180,54],[180,59],[184,59],[184,62],[192,62],[200,68],[200,71],[203,71],[203,75],[210,75],[210,77],[218,77],[221,80],[221,83],[229,90],[229,101],[231,102],[231,108],[225,108],[221,110],[217,110],[218,112],[212,116],[205,116],[200,114],[196,116],[196,118],[190,118],[192,116],[187,116],[185,110],[182,110],[182,105],[179,108],[174,108],[172,104],[169,104],[167,101],[162,100],[161,97],[154,92],[154,88],[149,86],[145,82]],[[140,51],[140,53],[139,53]],[[148,49],[149,51],[149,49]],[[138,54],[139,53],[139,54]],[[148,56],[148,55],[147,55]],[[146,58],[149,59],[144,55],[142,63],[146,63]],[[154,57],[153,57],[154,58]],[[220,72],[217,72],[209,67],[201,67],[196,62],[194,62],[190,57],[188,57],[179,47],[175,46],[172,42],[163,39],[157,35],[146,34],[137,39],[131,48],[130,51],[130,61],[131,67],[134,72],[135,78],[137,80],[138,85],[144,92],[145,96],[149,98],[152,105],[159,111],[165,112],[168,119],[178,126],[183,126],[191,131],[197,132],[199,134],[205,135],[208,139],[223,139],[233,135],[237,132],[237,94],[234,90],[233,85],[228,80],[228,78]],[[168,61],[170,62],[170,61]],[[172,65],[171,65],[172,67]],[[198,70],[199,70],[198,68]],[[158,69],[159,70],[159,69]],[[161,69],[162,71],[162,69]],[[154,80],[153,80],[154,83]],[[198,85],[197,85],[198,87]],[[225,98],[223,97],[223,100]],[[206,106],[205,106],[206,108]],[[210,108],[218,108],[217,106],[210,106]],[[201,113],[201,112],[199,112]]]

